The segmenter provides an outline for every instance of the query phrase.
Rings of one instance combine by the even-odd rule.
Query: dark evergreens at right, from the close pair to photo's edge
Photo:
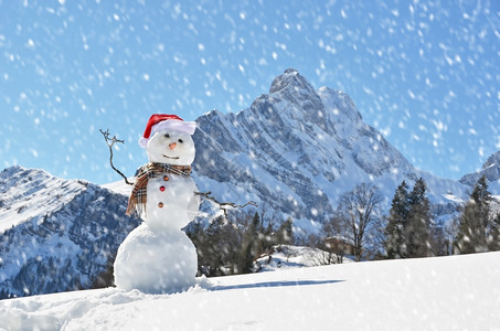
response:
[[[443,228],[432,220],[424,180],[417,180],[411,192],[403,181],[394,193],[384,229],[385,256],[406,258],[500,250],[500,213],[491,210],[486,177],[474,186],[457,223],[453,242],[443,241]]]

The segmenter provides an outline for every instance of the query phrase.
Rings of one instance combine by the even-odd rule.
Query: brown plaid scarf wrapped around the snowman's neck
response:
[[[126,215],[130,216],[136,211],[138,215],[146,213],[147,186],[151,178],[161,173],[173,173],[182,177],[190,177],[191,166],[172,166],[166,163],[149,162],[140,167],[134,183],[132,192],[128,199]]]

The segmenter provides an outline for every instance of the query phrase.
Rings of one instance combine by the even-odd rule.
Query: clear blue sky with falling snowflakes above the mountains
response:
[[[422,170],[500,150],[500,1],[0,0],[0,168],[118,181],[99,128],[131,175],[151,114],[237,113],[288,67]]]

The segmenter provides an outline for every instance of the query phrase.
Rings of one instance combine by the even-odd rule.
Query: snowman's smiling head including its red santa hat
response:
[[[149,118],[139,145],[146,148],[150,162],[189,166],[194,160],[191,135],[195,129],[194,121],[183,121],[175,115],[155,114]]]

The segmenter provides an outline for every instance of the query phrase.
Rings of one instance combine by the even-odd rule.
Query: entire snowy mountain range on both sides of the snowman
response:
[[[295,70],[237,114],[196,119],[193,179],[220,201],[256,201],[265,216],[316,231],[355,184],[376,185],[389,210],[394,190],[418,178],[438,222],[457,214],[485,174],[500,195],[500,152],[460,181],[416,170],[341,90],[318,90]],[[0,298],[89,288],[140,220],[125,216],[127,190],[12,167],[0,173]],[[128,188],[129,190],[129,188]],[[216,209],[205,202],[200,217]],[[206,214],[208,213],[208,214]]]

